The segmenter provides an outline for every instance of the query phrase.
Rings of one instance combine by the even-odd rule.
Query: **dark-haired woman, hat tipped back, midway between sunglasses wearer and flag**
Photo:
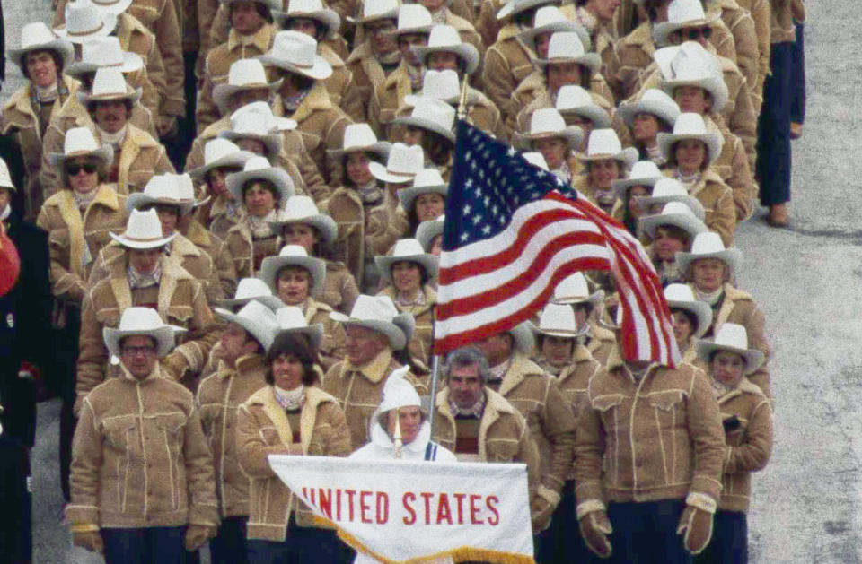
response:
[[[294,183],[283,169],[269,164],[264,157],[251,157],[242,172],[234,172],[224,179],[233,200],[241,203],[240,219],[224,241],[231,250],[236,274],[242,278],[257,273],[260,262],[273,256],[281,247],[276,221],[284,211],[287,198],[294,195]]]

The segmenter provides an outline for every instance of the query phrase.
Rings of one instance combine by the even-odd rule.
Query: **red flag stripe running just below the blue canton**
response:
[[[529,204],[528,204],[529,205]],[[565,220],[584,220],[582,214],[575,210],[558,208],[554,210],[541,210],[535,213],[530,219],[523,222],[521,228],[517,231],[515,240],[512,244],[498,253],[493,255],[481,256],[473,258],[461,264],[448,265],[440,269],[440,284],[445,286],[480,274],[492,273],[500,268],[505,267],[523,255],[523,249],[530,244],[532,237],[540,230],[544,229],[551,223]],[[510,226],[505,231],[510,231],[513,228]],[[595,242],[598,245],[603,245],[604,240],[599,233],[591,233],[585,231],[585,234],[590,234],[593,239],[585,242]],[[488,249],[493,251],[495,249]]]

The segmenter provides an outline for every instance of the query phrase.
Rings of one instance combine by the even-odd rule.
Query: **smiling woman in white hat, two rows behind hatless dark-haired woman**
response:
[[[300,197],[300,196],[295,196]],[[330,318],[332,308],[313,298],[323,290],[326,265],[320,258],[309,256],[303,247],[286,245],[278,256],[268,256],[260,265],[260,279],[272,295],[286,306],[299,309],[308,325],[321,325],[323,338],[317,348],[323,369],[344,359],[344,327]]]

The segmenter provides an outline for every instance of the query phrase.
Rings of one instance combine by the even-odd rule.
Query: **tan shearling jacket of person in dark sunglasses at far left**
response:
[[[72,190],[60,190],[42,206],[36,224],[48,232],[51,290],[54,296],[81,304],[87,280],[109,232],[126,229],[126,196],[107,184],[96,187],[92,202],[81,213]]]

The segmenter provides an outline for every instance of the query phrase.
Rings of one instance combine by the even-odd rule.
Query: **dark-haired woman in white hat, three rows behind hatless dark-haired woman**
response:
[[[329,215],[320,213],[308,196],[289,198],[284,212],[272,223],[273,229],[281,233],[286,245],[303,247],[306,255],[318,257],[326,267],[326,279],[313,292],[315,299],[333,310],[349,311],[359,295],[356,280],[344,263],[328,258],[338,237],[338,225]]]

